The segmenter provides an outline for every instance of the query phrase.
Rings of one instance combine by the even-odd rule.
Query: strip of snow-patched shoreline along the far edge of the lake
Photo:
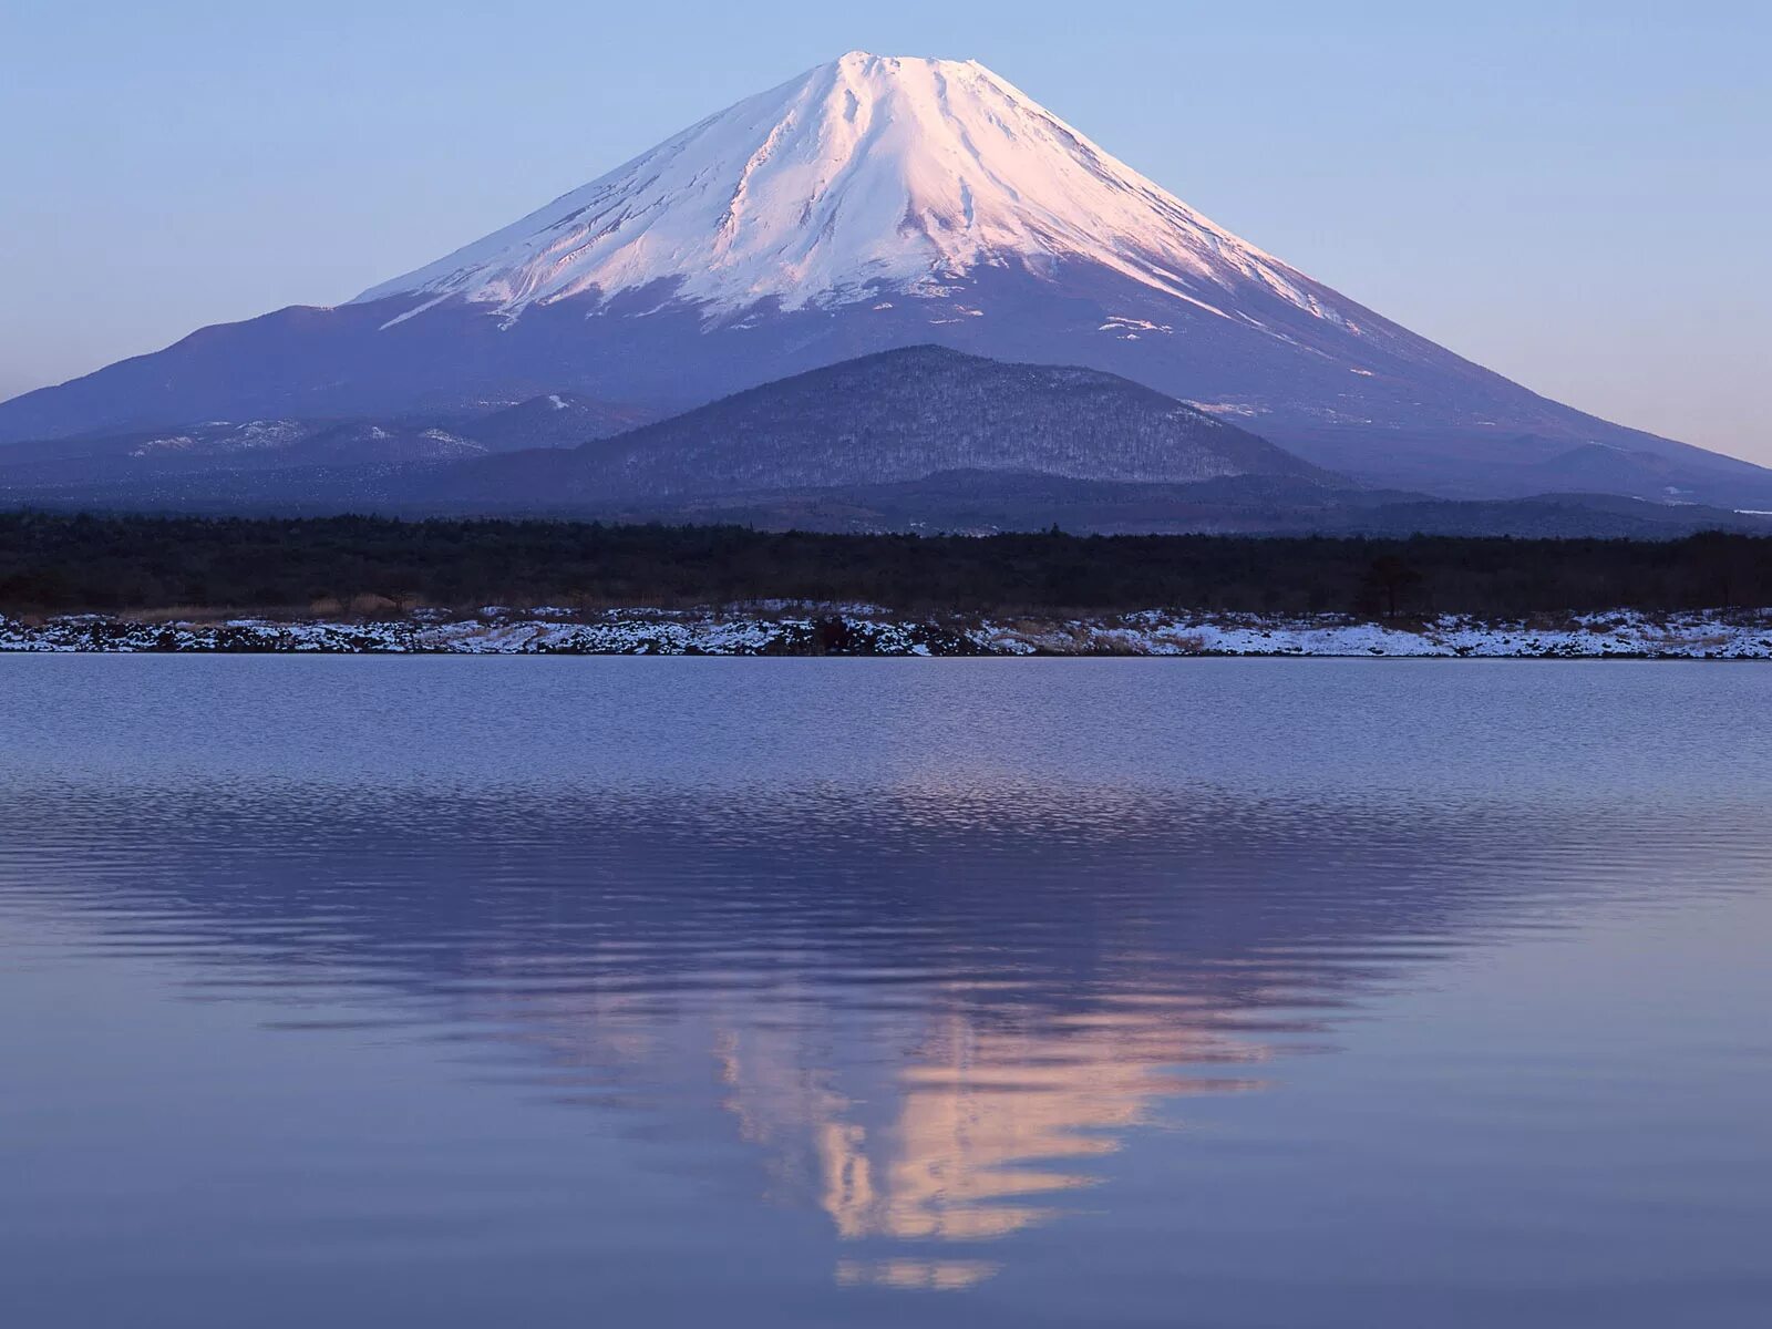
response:
[[[0,650],[253,650],[571,656],[1389,656],[1772,659],[1772,610],[1375,624],[1162,610],[1097,618],[905,618],[865,606],[567,610],[489,606],[470,618],[131,622],[0,617]]]

